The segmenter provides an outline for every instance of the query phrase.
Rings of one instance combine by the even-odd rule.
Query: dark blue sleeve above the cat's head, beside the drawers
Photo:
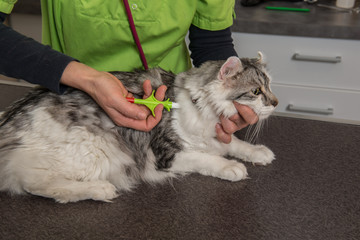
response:
[[[189,30],[191,58],[195,67],[209,60],[226,60],[237,56],[230,28],[208,31],[191,25]]]

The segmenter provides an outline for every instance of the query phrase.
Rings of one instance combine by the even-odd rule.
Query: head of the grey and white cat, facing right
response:
[[[265,119],[278,104],[270,81],[262,53],[253,59],[230,57],[218,70],[213,86],[209,84],[209,87],[221,89],[213,91],[212,102],[225,117],[236,113],[235,101],[252,108],[260,120]]]

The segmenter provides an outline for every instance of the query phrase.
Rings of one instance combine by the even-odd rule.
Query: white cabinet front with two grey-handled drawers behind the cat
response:
[[[247,33],[233,38],[240,57],[265,54],[278,114],[360,124],[360,41]]]

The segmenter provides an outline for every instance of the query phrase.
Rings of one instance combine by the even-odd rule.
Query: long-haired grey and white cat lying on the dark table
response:
[[[57,202],[109,202],[139,182],[200,173],[229,181],[247,177],[244,164],[266,165],[275,158],[263,145],[236,137],[216,139],[219,116],[237,113],[233,101],[266,119],[278,100],[259,58],[209,61],[178,75],[160,68],[113,72],[126,88],[143,95],[143,81],[164,84],[166,98],[180,109],[164,111],[150,132],[116,126],[84,92],[58,95],[38,88],[14,103],[0,120],[0,191],[30,193]]]

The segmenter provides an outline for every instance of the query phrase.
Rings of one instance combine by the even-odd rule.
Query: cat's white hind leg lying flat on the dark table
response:
[[[38,196],[53,198],[57,202],[77,202],[85,199],[110,202],[118,196],[116,188],[108,181],[74,181],[65,178],[43,178],[27,182],[24,190]]]

